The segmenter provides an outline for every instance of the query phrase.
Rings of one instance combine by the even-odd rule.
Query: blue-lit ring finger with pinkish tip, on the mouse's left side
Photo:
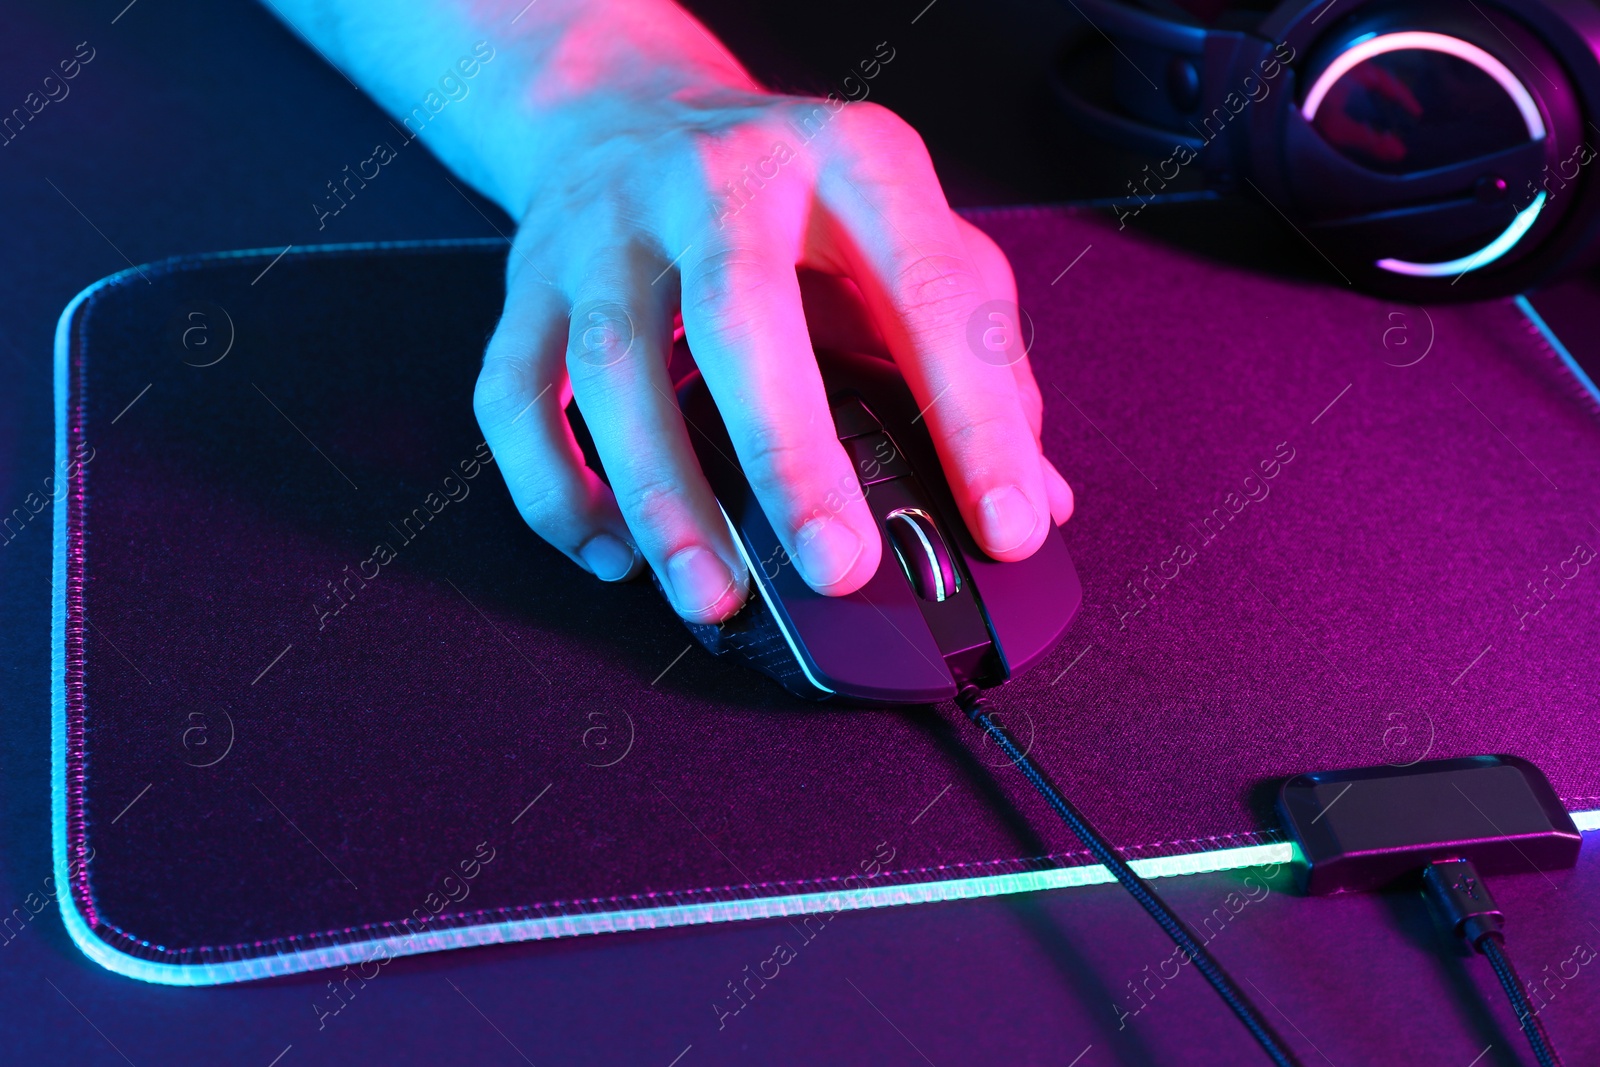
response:
[[[656,256],[600,245],[574,264],[566,373],[634,544],[672,606],[720,622],[749,574],[701,472],[667,376],[672,299]]]

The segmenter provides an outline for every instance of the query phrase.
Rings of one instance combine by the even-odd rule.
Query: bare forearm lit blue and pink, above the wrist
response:
[[[264,0],[514,218],[597,128],[760,86],[672,0]]]

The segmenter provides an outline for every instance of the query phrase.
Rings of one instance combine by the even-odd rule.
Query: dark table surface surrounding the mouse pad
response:
[[[10,5],[0,34],[0,112],[80,42],[94,50],[70,94],[0,147],[6,510],[51,474],[51,334],[90,282],[178,253],[509,232],[426,155],[386,170],[317,232],[312,200],[387,136],[382,114],[251,3],[123,5]],[[1051,110],[1038,70],[1072,27],[1056,5],[725,6],[704,6],[707,22],[789,88],[826,90],[830,72],[842,77],[888,40],[896,61],[874,99],[925,133],[958,206],[1115,195],[1138,170],[1083,144]],[[1144,221],[1216,254],[1317,270],[1293,234],[1248,206]],[[1586,286],[1566,290],[1557,330],[1582,325],[1581,309],[1594,306]],[[1578,333],[1568,339],[1587,358],[1597,339]],[[46,525],[0,552],[0,912],[27,917],[51,870]],[[1162,891],[1198,920],[1242,877],[1165,880]],[[1542,1017],[1557,1045],[1568,1062],[1595,1062],[1600,856],[1590,845],[1576,870],[1507,877],[1498,894],[1522,969],[1549,981]],[[6,1062],[1256,1062],[1187,969],[1141,985],[1144,1000],[1130,992],[1171,947],[1114,886],[842,913],[722,1029],[712,1005],[774,942],[795,939],[787,923],[403,958],[322,1030],[314,1003],[326,976],[142,985],[85,960],[53,907],[13,918],[5,937]],[[1411,894],[1307,901],[1278,878],[1251,891],[1213,947],[1307,1064],[1531,1062],[1483,961],[1456,952]]]

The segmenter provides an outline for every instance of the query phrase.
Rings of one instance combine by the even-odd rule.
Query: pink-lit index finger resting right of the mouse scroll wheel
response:
[[[998,560],[1027,558],[1054,509],[1013,371],[1022,342],[994,302],[1005,294],[989,291],[920,139],[870,104],[845,114],[866,147],[848,174],[824,168],[818,184],[838,246],[925,408],[973,536]]]

